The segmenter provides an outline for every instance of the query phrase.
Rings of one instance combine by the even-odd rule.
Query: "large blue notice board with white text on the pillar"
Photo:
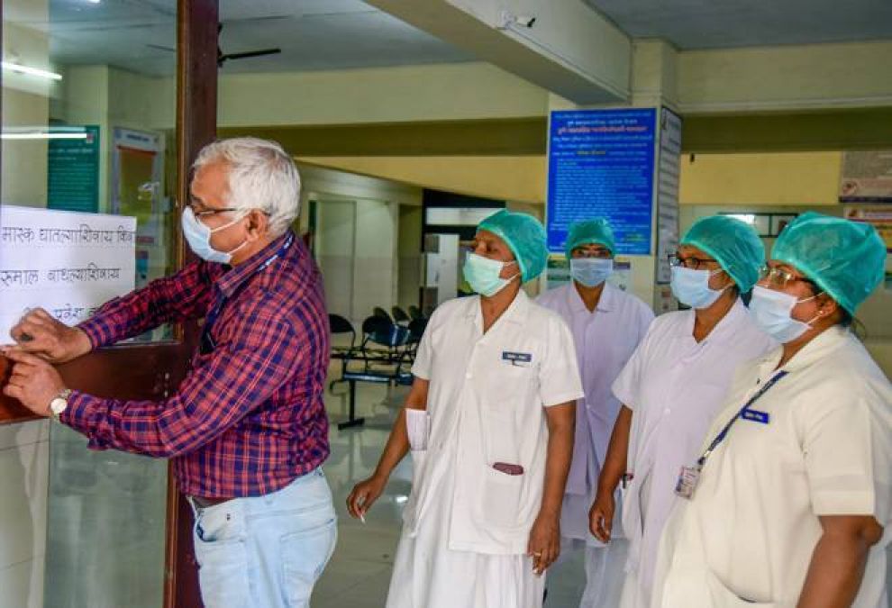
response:
[[[564,250],[571,223],[605,217],[616,253],[651,253],[656,117],[653,108],[551,113],[550,251]]]

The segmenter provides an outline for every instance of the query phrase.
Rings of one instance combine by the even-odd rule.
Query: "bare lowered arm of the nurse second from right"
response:
[[[614,492],[626,473],[629,454],[629,431],[632,429],[632,410],[625,405],[616,417],[614,431],[604,459],[604,467],[597,480],[597,494],[588,512],[588,525],[597,540],[610,542],[616,508]]]

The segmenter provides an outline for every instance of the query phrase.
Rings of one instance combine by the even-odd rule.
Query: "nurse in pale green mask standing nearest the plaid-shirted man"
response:
[[[390,608],[542,606],[583,395],[566,323],[521,290],[546,257],[532,216],[480,223],[463,269],[478,295],[433,313],[378,467],[347,499],[362,516],[412,450]]]

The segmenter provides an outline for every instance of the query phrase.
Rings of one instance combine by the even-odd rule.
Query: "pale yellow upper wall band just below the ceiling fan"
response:
[[[220,79],[221,127],[541,116],[547,92],[486,63]]]

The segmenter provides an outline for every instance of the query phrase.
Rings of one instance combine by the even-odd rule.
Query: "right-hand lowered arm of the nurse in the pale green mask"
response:
[[[576,402],[545,408],[548,424],[548,452],[545,458],[545,485],[539,515],[532,524],[527,553],[532,567],[542,574],[560,554],[560,507],[564,501],[573,438],[576,432]]]

